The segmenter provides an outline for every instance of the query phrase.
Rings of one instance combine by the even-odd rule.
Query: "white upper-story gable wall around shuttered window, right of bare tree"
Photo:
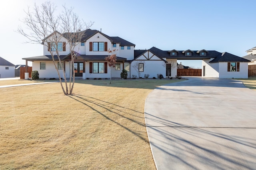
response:
[[[86,55],[108,55],[107,51],[90,51],[90,42],[92,42],[92,43],[93,42],[107,42],[108,43],[107,49],[112,49],[111,41],[107,37],[102,35],[101,33],[96,33],[95,35],[93,35],[92,37],[87,39],[87,41],[85,43]],[[92,47],[92,50],[93,50],[93,47]]]

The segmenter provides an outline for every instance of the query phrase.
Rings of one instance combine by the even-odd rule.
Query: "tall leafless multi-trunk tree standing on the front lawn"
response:
[[[82,37],[85,35],[86,29],[92,26],[92,22],[85,23],[81,21],[78,16],[73,12],[74,8],[66,8],[63,6],[64,10],[62,13],[56,14],[57,6],[50,1],[44,2],[41,6],[34,4],[34,8],[25,11],[26,17],[22,22],[26,25],[26,30],[22,27],[18,27],[17,32],[28,38],[29,41],[26,43],[40,43],[48,48],[50,55],[52,56],[52,61],[54,67],[58,73],[60,79],[60,85],[65,95],[72,94],[72,90],[75,82],[74,74],[74,57],[76,57],[79,50],[79,42],[81,42]],[[62,45],[63,39],[67,40]],[[59,52],[64,48],[69,47],[71,62],[70,62],[70,82],[69,88],[66,79],[66,72],[64,66],[61,64]],[[76,48],[77,51],[74,51]],[[56,62],[57,60],[57,62]],[[65,86],[62,84],[60,72],[58,70],[58,62],[61,65]],[[73,74],[73,75],[72,75]],[[71,79],[73,81],[71,83]],[[71,86],[72,84],[72,86]]]

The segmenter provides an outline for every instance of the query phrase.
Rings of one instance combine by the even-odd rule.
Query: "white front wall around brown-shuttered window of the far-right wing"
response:
[[[228,63],[219,64],[219,78],[248,78],[248,63],[240,62],[239,71],[228,71]]]

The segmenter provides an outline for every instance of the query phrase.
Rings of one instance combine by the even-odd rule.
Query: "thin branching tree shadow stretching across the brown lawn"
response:
[[[122,127],[123,129],[129,131],[130,133],[138,136],[143,141],[148,142],[148,139],[145,139],[140,133],[134,131],[133,129],[131,129],[129,127],[126,127],[125,125],[122,125],[120,122],[117,121],[119,118],[124,118],[124,119],[127,120],[126,123],[128,123],[128,124],[136,123],[139,126],[146,127],[145,124],[143,124],[143,123],[141,123],[139,121],[134,120],[136,117],[144,119],[144,113],[136,111],[136,110],[133,110],[133,109],[129,109],[127,107],[118,106],[118,105],[110,103],[110,102],[105,102],[103,100],[99,100],[99,99],[96,99],[96,98],[88,97],[88,96],[82,96],[82,95],[75,94],[75,95],[69,96],[69,97],[74,99],[74,100],[76,100],[77,102],[80,102],[81,104],[89,107],[93,111],[96,111],[97,113],[102,115],[104,118],[112,121],[116,125],[119,125],[120,127]],[[102,103],[104,103],[104,104],[102,104]],[[95,107],[94,106],[90,106],[89,104],[92,104]],[[108,106],[108,105],[111,105],[111,106]],[[112,107],[112,106],[115,106],[115,107]],[[97,109],[97,107],[99,107],[101,109],[104,109],[104,111],[108,111],[108,113],[107,114],[102,113],[102,111],[100,111],[100,109]],[[121,109],[127,109],[127,111],[129,111],[129,112],[139,113],[139,114],[141,114],[141,117],[133,115],[133,114],[128,113],[126,111],[123,111]],[[123,113],[123,114],[121,114],[121,113]],[[117,116],[117,118],[115,118],[116,120],[111,118],[111,116],[109,116],[110,114],[115,114]],[[134,119],[132,119],[132,118],[130,118],[128,116],[125,116],[125,115],[130,115],[130,117],[134,117]]]

